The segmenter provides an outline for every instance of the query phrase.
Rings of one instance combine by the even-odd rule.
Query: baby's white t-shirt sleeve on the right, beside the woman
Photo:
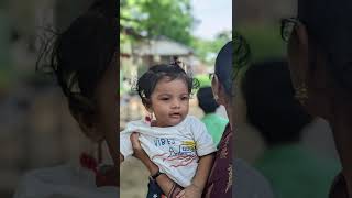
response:
[[[196,118],[191,122],[198,156],[216,152],[217,147],[206,125]]]

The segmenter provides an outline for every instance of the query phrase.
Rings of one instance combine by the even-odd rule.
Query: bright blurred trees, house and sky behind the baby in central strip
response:
[[[121,0],[120,1],[120,128],[142,119],[145,109],[131,90],[150,66],[178,57],[201,86],[220,48],[232,40],[231,0]],[[227,118],[222,108],[217,113]],[[196,95],[189,114],[204,117]],[[146,195],[148,173],[135,158],[123,162],[121,197]]]

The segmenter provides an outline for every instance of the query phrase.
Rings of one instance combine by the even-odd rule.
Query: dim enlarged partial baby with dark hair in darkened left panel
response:
[[[57,36],[50,53],[50,67],[68,100],[72,116],[88,139],[99,145],[107,143],[114,164],[100,164],[99,146],[98,160],[82,154],[80,166],[65,164],[28,173],[15,198],[118,197],[116,16],[113,1],[96,1]]]

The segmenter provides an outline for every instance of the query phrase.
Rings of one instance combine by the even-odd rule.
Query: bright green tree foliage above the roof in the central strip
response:
[[[232,40],[232,32],[221,32],[212,41],[198,38],[191,36],[195,21],[190,0],[120,1],[120,25],[150,38],[166,36],[190,46],[196,56],[213,66],[220,48]],[[121,48],[133,42],[133,36],[120,33]]]

